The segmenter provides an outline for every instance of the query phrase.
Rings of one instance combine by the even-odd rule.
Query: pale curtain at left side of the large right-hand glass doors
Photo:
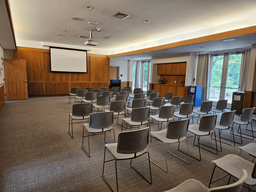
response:
[[[207,101],[207,89],[208,89],[208,72],[210,64],[210,54],[199,54],[197,60],[196,69],[196,85],[202,86],[202,98],[201,102]]]

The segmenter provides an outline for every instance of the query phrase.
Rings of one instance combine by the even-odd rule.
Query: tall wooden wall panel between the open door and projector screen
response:
[[[43,52],[13,50],[13,58],[26,60],[28,81],[45,81]]]

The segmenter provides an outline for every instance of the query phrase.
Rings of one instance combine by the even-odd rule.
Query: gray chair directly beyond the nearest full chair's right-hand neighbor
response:
[[[159,108],[159,114],[158,115],[150,115],[150,118],[156,121],[158,121],[158,131],[162,130],[162,124],[163,122],[167,122],[166,123],[166,128],[168,125],[168,122],[170,120],[173,120],[172,117],[174,115],[174,111],[175,111],[175,106],[174,105],[170,105],[170,106],[161,106]],[[161,122],[161,127],[159,130],[159,122]]]

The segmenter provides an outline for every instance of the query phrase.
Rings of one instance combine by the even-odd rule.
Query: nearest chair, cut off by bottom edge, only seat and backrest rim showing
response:
[[[248,176],[247,171],[244,169],[240,173],[241,174],[238,177],[239,180],[230,185],[214,187],[209,189],[200,181],[190,179],[190,180],[184,181],[177,187],[171,190],[168,190],[166,192],[240,192],[243,187],[243,183]]]

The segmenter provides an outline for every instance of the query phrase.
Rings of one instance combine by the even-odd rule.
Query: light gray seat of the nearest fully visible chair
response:
[[[122,153],[117,153],[117,143],[115,144],[105,144],[106,148],[109,150],[112,156],[116,159],[131,159],[134,157],[134,154],[122,154]],[[136,153],[136,156],[140,156],[142,154],[146,153],[146,149],[143,149],[140,152]]]

